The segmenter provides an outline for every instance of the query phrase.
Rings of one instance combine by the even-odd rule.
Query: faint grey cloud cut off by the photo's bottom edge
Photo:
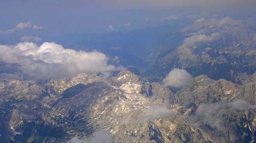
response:
[[[77,136],[67,141],[67,143],[113,143],[112,134],[104,130],[96,131],[91,138],[80,139]]]

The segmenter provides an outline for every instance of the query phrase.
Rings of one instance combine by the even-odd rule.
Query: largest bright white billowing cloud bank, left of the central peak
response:
[[[64,49],[56,43],[19,43],[14,46],[0,45],[0,61],[17,63],[21,71],[40,79],[72,77],[79,73],[104,73],[116,70],[108,65],[105,54]]]

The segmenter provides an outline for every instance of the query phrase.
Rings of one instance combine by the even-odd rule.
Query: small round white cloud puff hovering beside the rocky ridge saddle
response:
[[[186,70],[174,68],[163,79],[163,83],[165,86],[182,87],[187,85],[191,80],[192,76]]]

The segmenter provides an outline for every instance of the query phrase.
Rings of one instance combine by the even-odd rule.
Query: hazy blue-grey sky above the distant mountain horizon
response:
[[[0,0],[0,9],[2,36],[59,35],[132,30],[207,16],[252,16],[256,0]]]

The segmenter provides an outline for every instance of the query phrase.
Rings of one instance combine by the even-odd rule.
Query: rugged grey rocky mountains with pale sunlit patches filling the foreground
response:
[[[253,142],[255,76],[251,79],[237,85],[201,75],[176,94],[127,70],[104,81],[84,74],[43,86],[1,80],[1,138],[85,142],[103,130],[100,135],[116,143]],[[18,85],[22,90],[14,88]]]

